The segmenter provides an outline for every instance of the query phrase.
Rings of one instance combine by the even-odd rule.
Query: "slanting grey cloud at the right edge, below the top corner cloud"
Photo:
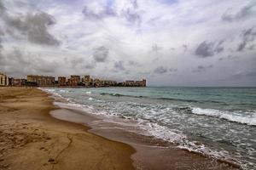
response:
[[[256,31],[254,30],[254,28],[250,28],[245,31],[242,31],[241,42],[238,44],[237,51],[238,52],[243,51],[249,43],[254,42],[255,37],[256,37]]]

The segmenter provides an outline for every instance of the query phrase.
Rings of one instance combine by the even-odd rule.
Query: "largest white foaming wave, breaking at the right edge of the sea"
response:
[[[201,108],[193,108],[191,112],[195,115],[214,116],[230,122],[238,122],[241,124],[256,126],[255,112],[234,113],[230,111],[219,111],[215,109]]]

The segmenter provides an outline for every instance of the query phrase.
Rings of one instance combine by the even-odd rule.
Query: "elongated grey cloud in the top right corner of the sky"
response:
[[[245,20],[248,17],[252,17],[255,14],[253,8],[256,6],[256,3],[250,3],[247,6],[241,8],[236,14],[230,14],[230,9],[228,9],[223,15],[222,20],[233,22],[237,20]]]

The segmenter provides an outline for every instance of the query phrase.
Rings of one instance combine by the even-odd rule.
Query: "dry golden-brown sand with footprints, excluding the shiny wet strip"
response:
[[[56,108],[37,88],[0,88],[0,169],[134,169],[128,144],[49,116]]]

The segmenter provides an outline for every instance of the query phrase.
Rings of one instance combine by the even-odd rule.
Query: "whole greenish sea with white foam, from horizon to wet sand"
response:
[[[56,105],[131,120],[127,131],[256,168],[256,88],[44,88]],[[125,122],[129,123],[129,121]]]

